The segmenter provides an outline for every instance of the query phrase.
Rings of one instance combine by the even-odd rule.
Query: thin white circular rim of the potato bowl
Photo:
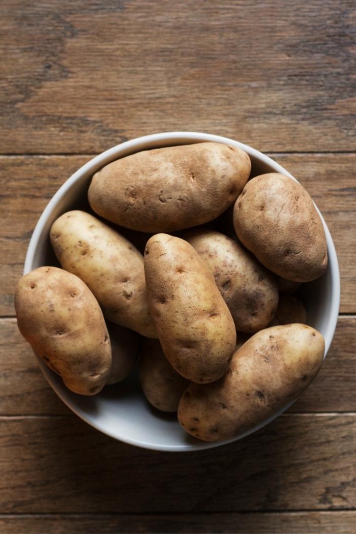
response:
[[[119,159],[120,157],[124,157],[126,154],[125,152],[135,153],[140,150],[150,150],[150,147],[148,145],[154,145],[154,144],[160,144],[160,146],[164,146],[165,143],[167,143],[166,146],[173,146],[175,143],[177,144],[192,144],[192,143],[204,143],[204,142],[213,142],[213,143],[223,143],[230,146],[238,147],[247,152],[250,156],[255,158],[256,160],[261,161],[262,163],[270,166],[273,168],[274,172],[280,172],[283,175],[289,176],[290,178],[294,179],[296,182],[298,180],[290,174],[284,167],[282,167],[279,163],[276,163],[272,158],[269,156],[263,154],[262,152],[259,152],[256,150],[256,148],[253,148],[249,145],[240,143],[238,141],[235,141],[233,139],[230,139],[228,137],[218,136],[211,133],[203,133],[203,132],[189,132],[189,131],[171,131],[171,132],[160,132],[160,133],[153,133],[151,135],[136,137],[134,139],[125,141],[123,143],[120,143],[118,145],[113,146],[112,148],[109,148],[108,150],[101,152],[100,154],[94,156],[94,158],[91,158],[88,162],[86,162],[82,167],[80,167],[77,171],[74,172],[72,176],[70,176],[64,184],[61,185],[61,187],[58,189],[56,193],[54,193],[51,200],[48,202],[48,205],[44,208],[41,216],[39,217],[37,224],[35,226],[35,229],[33,231],[33,234],[31,236],[26,258],[25,258],[25,264],[23,268],[23,274],[27,274],[31,270],[34,269],[33,263],[35,258],[36,249],[38,246],[38,242],[43,237],[44,229],[46,226],[46,223],[51,216],[52,210],[54,207],[58,205],[58,203],[65,197],[67,191],[72,187],[73,184],[77,182],[80,178],[83,177],[83,175],[90,175],[90,172],[94,172],[98,170],[100,167],[104,166],[110,161],[114,161],[115,159]],[[179,143],[181,142],[181,143]],[[142,145],[147,145],[146,147],[142,148]],[[153,147],[151,147],[153,148]],[[298,182],[299,183],[299,182]],[[330,265],[330,274],[331,274],[331,285],[333,287],[333,290],[331,292],[331,300],[330,300],[330,309],[329,309],[329,320],[328,320],[328,332],[325,336],[325,353],[324,353],[324,359],[327,355],[327,352],[329,350],[331,341],[333,339],[335,328],[338,320],[338,313],[339,313],[339,302],[340,302],[340,275],[339,275],[339,266],[338,266],[338,260],[336,255],[336,250],[334,246],[333,239],[331,238],[331,234],[329,232],[328,226],[326,222],[324,221],[324,218],[322,214],[320,213],[320,210],[315,205],[314,206],[317,209],[323,228],[325,230],[326,234],[326,240],[327,240],[327,248],[328,248],[328,261]],[[288,403],[287,406],[284,406],[281,410],[276,412],[272,415],[272,417],[268,418],[267,420],[264,420],[259,425],[255,426],[254,428],[251,428],[250,430],[244,432],[238,437],[227,439],[224,441],[219,442],[199,442],[196,444],[185,444],[185,445],[157,445],[152,443],[147,443],[143,441],[139,441],[137,439],[131,439],[124,435],[120,435],[118,437],[117,434],[110,433],[107,429],[104,429],[100,426],[100,424],[85,414],[81,413],[79,409],[76,409],[73,407],[73,405],[70,403],[70,400],[65,397],[62,391],[60,391],[56,384],[53,383],[51,380],[51,375],[48,372],[49,369],[46,367],[46,365],[42,362],[41,358],[39,358],[37,355],[37,361],[39,364],[39,367],[42,370],[42,373],[44,374],[46,380],[49,382],[52,389],[56,392],[56,394],[60,397],[60,399],[69,407],[72,412],[74,412],[78,417],[83,419],[86,423],[89,423],[92,427],[96,428],[97,430],[101,431],[102,433],[113,437],[117,441],[122,441],[124,443],[135,445],[139,447],[143,447],[144,449],[151,449],[151,450],[158,450],[158,451],[169,451],[169,452],[189,452],[189,451],[197,451],[197,450],[205,450],[205,449],[211,449],[213,447],[222,446],[228,443],[232,443],[234,441],[238,441],[239,439],[242,439],[243,437],[246,437],[249,434],[254,433],[255,431],[259,430],[260,428],[264,427],[277,417],[281,415],[284,411],[288,409],[289,406],[291,406],[296,399],[292,400],[290,403]]]

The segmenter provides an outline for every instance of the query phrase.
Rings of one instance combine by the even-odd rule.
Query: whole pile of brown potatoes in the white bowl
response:
[[[327,268],[322,222],[300,184],[250,173],[249,156],[224,144],[139,152],[94,174],[96,216],[53,223],[61,269],[22,277],[15,308],[70,390],[97,394],[139,358],[148,402],[217,441],[311,383],[325,343],[293,293]]]

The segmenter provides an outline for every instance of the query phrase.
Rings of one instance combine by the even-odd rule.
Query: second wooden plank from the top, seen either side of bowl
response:
[[[91,156],[0,156],[0,315],[14,315],[31,231],[58,187]],[[356,312],[355,154],[288,154],[274,158],[292,172],[317,202],[338,252],[342,312]]]

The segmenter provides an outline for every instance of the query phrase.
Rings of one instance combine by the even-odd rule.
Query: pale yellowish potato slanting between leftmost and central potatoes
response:
[[[147,302],[144,258],[130,241],[78,210],[61,215],[50,237],[62,268],[85,282],[107,319],[157,337]]]

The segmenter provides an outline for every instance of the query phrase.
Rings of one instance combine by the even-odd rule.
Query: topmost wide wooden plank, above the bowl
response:
[[[170,130],[354,150],[354,13],[353,0],[5,0],[1,150],[101,152]]]

